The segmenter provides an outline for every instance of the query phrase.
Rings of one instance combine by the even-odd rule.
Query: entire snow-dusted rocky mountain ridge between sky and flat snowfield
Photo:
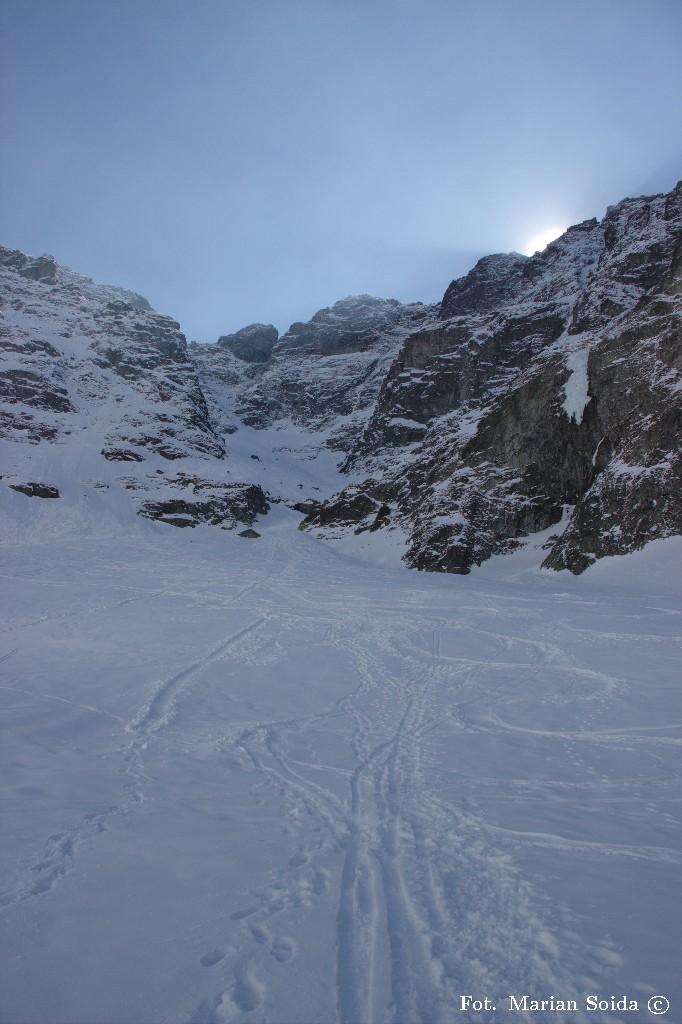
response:
[[[256,540],[282,506],[458,573],[540,535],[581,572],[682,532],[681,264],[678,184],[479,260],[439,305],[360,295],[187,345],[141,296],[0,249],[3,503],[17,530]]]

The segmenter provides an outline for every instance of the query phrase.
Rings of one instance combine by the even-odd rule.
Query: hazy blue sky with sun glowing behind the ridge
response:
[[[680,0],[2,0],[0,244],[214,341],[682,176]]]

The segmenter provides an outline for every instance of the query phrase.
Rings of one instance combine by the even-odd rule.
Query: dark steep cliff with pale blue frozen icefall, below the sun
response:
[[[681,227],[678,186],[454,282],[349,456],[363,483],[306,525],[399,525],[409,564],[455,572],[550,526],[572,571],[682,531]]]

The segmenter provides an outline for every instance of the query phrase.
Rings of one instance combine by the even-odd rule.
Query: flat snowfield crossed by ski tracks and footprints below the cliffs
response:
[[[461,579],[261,528],[5,555],[0,1019],[679,1008],[679,542]]]

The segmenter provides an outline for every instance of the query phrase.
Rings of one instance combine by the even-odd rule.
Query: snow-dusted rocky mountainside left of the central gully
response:
[[[175,525],[250,524],[264,495],[228,479],[179,325],[54,261],[43,273],[47,259],[0,249],[2,483],[28,494],[24,477],[48,474],[29,482],[80,506],[122,492],[140,515]],[[81,510],[71,512],[79,528]]]

